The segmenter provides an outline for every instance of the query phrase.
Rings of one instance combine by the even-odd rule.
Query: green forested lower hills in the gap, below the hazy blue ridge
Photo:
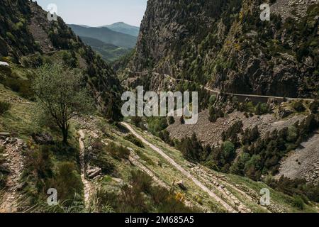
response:
[[[129,49],[120,48],[109,43],[104,43],[101,40],[95,38],[89,38],[85,36],[80,36],[80,38],[84,43],[86,43],[86,45],[91,46],[93,50],[98,52],[102,56],[103,60],[106,60],[108,62],[118,60],[120,57],[130,52]]]

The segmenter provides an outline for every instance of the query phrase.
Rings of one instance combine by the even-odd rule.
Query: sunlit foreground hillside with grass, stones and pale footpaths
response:
[[[13,199],[9,197],[5,202],[1,201],[0,196],[1,209],[6,209],[10,202],[12,209],[22,212],[301,212],[293,206],[292,196],[271,189],[262,182],[223,174],[189,162],[179,150],[130,122],[123,123],[123,127],[111,126],[98,116],[75,118],[72,121],[70,140],[73,149],[80,150],[83,146],[84,153],[81,151],[79,157],[74,156],[77,153],[73,154],[72,150],[58,152],[59,136],[48,129],[46,133],[50,133],[57,144],[39,145],[29,134],[29,131],[40,130],[33,128],[34,103],[1,84],[0,92],[0,101],[11,100],[12,104],[11,109],[0,116],[0,129],[16,131],[18,135],[16,141],[10,137],[12,142],[5,144],[5,140],[0,138],[1,147],[5,148],[0,151],[0,167],[5,166],[2,160],[8,155],[14,155],[14,159],[9,162],[10,170],[23,164],[19,166],[22,174],[8,175],[9,179],[14,180],[12,187],[16,194],[11,193]],[[16,121],[17,118],[20,121]],[[29,144],[24,141],[29,141]],[[45,150],[49,156],[45,155]],[[67,172],[62,175],[62,179],[66,182],[72,180],[73,184],[57,186],[58,178],[55,175],[59,174],[60,166],[65,165],[64,160],[82,160],[83,155],[86,156],[84,184],[77,186],[78,179],[74,179],[74,172],[71,176]],[[55,175],[50,175],[50,171],[55,172]],[[41,190],[47,186],[57,187],[60,199],[69,198],[72,196],[69,192],[76,189],[81,199],[74,201],[69,208],[66,204],[46,206],[46,189],[44,192]],[[259,204],[262,188],[270,190],[271,206]],[[132,196],[125,197],[125,193]],[[37,204],[32,203],[35,199],[38,199]],[[83,206],[84,203],[88,206]],[[306,204],[303,211],[315,212],[316,209],[314,204]]]

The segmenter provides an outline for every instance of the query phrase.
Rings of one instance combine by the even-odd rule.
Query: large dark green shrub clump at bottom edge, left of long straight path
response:
[[[96,196],[100,201],[99,209],[107,204],[118,213],[196,212],[167,189],[152,185],[152,177],[141,171],[131,172],[130,186],[123,185],[119,194],[99,190]]]

